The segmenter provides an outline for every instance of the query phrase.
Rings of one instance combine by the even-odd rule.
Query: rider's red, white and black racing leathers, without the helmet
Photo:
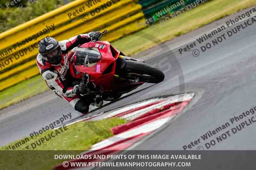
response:
[[[81,96],[73,92],[74,86],[77,85],[80,80],[70,75],[69,62],[75,52],[75,48],[90,41],[91,39],[87,38],[87,34],[79,34],[68,40],[60,41],[59,45],[62,50],[62,60],[58,65],[45,61],[41,54],[38,54],[36,57],[36,64],[48,87],[52,89],[57,96],[65,99],[72,107],[75,107],[75,110],[81,113],[88,112],[90,103],[80,100]],[[69,54],[68,51],[70,51]],[[52,77],[49,78],[49,75]]]

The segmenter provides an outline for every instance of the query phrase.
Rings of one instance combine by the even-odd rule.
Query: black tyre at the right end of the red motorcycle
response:
[[[127,73],[139,74],[138,77],[142,82],[160,83],[164,80],[163,71],[146,63],[126,60],[125,70]]]

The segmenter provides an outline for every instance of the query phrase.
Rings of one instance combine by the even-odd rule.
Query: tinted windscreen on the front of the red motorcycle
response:
[[[101,59],[100,52],[90,48],[76,48],[75,65],[87,65],[97,63]]]

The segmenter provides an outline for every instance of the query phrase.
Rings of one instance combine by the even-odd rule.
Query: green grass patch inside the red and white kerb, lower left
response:
[[[46,142],[44,141],[40,146],[36,146],[34,150],[31,147],[32,143],[36,143],[41,137],[47,136],[52,133],[52,131],[55,134],[55,130],[48,130],[33,139],[28,137],[29,141],[22,144],[15,151],[0,152],[2,154],[0,155],[0,168],[4,167],[4,169],[8,170],[52,169],[55,165],[65,160],[54,159],[54,154],[80,154],[88,150],[93,144],[113,136],[110,129],[123,123],[125,123],[125,120],[118,118],[104,119],[95,122],[78,122],[67,126],[67,130],[62,128],[63,132],[59,130],[60,134]],[[23,139],[25,139],[25,137]],[[15,143],[21,140],[22,139],[8,145],[15,145]],[[0,150],[5,150],[8,145],[1,147]],[[29,146],[29,150],[22,150],[26,146]]]

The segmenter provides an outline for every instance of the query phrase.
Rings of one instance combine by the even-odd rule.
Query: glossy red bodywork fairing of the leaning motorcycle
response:
[[[97,48],[101,59],[92,66],[75,65],[76,56],[73,55],[70,62],[70,72],[74,78],[81,78],[82,74],[86,72],[90,75],[90,81],[100,87],[102,92],[109,90],[113,92],[131,91],[143,84],[143,82],[124,82],[115,78],[116,59],[118,59],[121,52],[111,46],[108,41],[89,42],[81,45],[80,48]]]

